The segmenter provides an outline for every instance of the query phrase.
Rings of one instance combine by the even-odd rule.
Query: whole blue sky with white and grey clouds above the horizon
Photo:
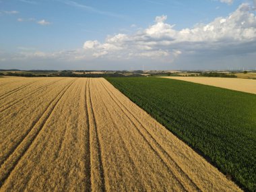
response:
[[[0,69],[256,69],[256,0],[0,0]]]

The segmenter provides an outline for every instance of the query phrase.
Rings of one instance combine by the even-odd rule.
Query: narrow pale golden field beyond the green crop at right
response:
[[[186,82],[193,82],[197,84],[216,86],[220,88],[226,88],[230,90],[256,94],[255,79],[238,79],[238,78],[224,78],[224,77],[163,77],[163,78],[183,80]]]

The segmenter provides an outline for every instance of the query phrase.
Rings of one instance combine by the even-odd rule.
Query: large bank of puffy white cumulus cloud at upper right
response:
[[[255,51],[256,18],[248,4],[241,4],[228,17],[216,18],[209,24],[175,30],[167,16],[157,16],[155,24],[135,34],[108,36],[104,42],[88,40],[85,53],[91,57],[150,57],[174,61],[183,54],[238,54]]]

